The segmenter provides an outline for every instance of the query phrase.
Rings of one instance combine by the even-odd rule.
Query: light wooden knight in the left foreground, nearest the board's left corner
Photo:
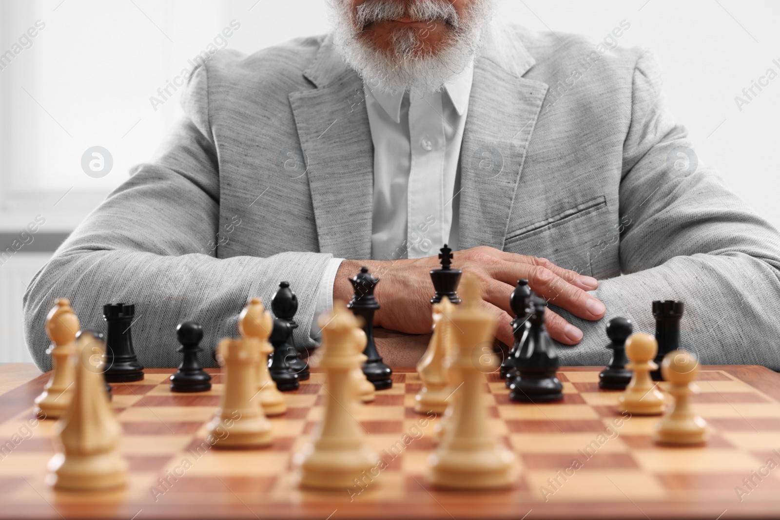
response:
[[[127,480],[127,463],[119,455],[122,426],[104,391],[102,352],[94,355],[103,348],[87,331],[76,340],[73,397],[54,426],[57,454],[47,466],[46,482],[58,489],[102,490]]]

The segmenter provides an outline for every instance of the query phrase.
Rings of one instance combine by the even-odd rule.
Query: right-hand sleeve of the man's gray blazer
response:
[[[627,104],[626,104],[627,106]],[[693,151],[684,126],[665,111],[655,59],[633,75],[631,123],[623,146],[619,214],[622,276],[594,295],[597,322],[562,313],[583,341],[560,348],[562,363],[605,363],[605,325],[616,316],[653,333],[653,300],[685,303],[683,348],[706,364],[780,369],[780,235],[725,186]]]

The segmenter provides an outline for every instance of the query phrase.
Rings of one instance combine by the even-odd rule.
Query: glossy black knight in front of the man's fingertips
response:
[[[509,398],[520,402],[548,402],[563,398],[563,385],[555,377],[558,353],[544,327],[544,301],[531,303],[529,334],[520,345],[516,376],[509,385]]]

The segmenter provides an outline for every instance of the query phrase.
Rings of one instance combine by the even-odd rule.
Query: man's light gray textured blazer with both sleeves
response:
[[[653,56],[594,49],[519,27],[485,44],[460,154],[462,247],[544,256],[601,280],[603,320],[563,313],[584,331],[559,348],[563,364],[606,363],[609,319],[651,332],[651,301],[679,299],[683,344],[704,363],[780,368],[780,235],[689,150]],[[135,303],[141,363],[176,366],[176,324],[204,324],[213,349],[236,335],[248,297],[268,306],[289,280],[296,341],[309,342],[328,258],[371,254],[362,93],[328,36],[220,51],[197,69],[161,154],[133,168],[27,289],[38,366],[50,366],[44,320],[62,296],[97,330],[104,303]],[[679,152],[687,170],[674,167],[686,166]]]

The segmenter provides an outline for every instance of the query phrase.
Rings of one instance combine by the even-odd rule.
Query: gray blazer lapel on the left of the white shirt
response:
[[[314,90],[289,94],[307,175],[320,251],[371,257],[374,145],[363,81],[327,37],[304,75]]]

